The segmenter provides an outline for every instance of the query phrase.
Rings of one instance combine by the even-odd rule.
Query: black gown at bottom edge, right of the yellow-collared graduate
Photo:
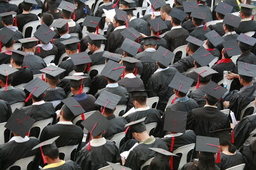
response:
[[[97,170],[100,167],[108,166],[108,162],[121,162],[118,148],[113,141],[106,140],[101,146],[91,146],[91,150],[87,150],[88,145],[84,146],[77,153],[76,162],[83,170]]]

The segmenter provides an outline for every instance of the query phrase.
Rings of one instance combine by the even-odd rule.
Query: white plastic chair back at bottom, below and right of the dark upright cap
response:
[[[188,153],[189,153],[189,151],[193,150],[194,148],[195,148],[195,143],[191,143],[189,145],[181,146],[181,147],[177,148],[176,150],[173,150],[174,154],[182,153],[178,169],[181,169],[184,166],[184,164],[188,163],[187,162]]]

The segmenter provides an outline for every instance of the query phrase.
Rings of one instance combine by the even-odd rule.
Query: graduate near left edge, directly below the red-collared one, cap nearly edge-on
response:
[[[11,65],[13,68],[18,69],[17,72],[12,74],[12,85],[20,85],[22,83],[28,83],[33,80],[33,73],[30,69],[22,67],[24,56],[28,55],[26,52],[20,52],[17,50],[11,50]]]

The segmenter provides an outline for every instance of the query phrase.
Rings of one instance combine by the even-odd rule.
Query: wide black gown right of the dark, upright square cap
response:
[[[193,130],[196,135],[209,136],[210,131],[226,128],[230,128],[228,117],[217,108],[206,106],[188,113],[186,129]]]

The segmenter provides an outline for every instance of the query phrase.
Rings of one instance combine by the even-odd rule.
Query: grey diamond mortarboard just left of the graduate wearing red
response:
[[[192,57],[200,66],[207,66],[215,58],[204,46],[198,48],[198,50],[192,54]]]

